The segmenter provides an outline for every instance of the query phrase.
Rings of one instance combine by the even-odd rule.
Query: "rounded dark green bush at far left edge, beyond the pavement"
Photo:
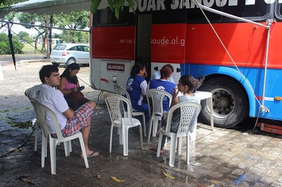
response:
[[[23,44],[20,43],[19,37],[13,36],[13,49],[15,53],[23,53]],[[0,33],[0,55],[11,54],[10,42],[8,39],[8,34]]]

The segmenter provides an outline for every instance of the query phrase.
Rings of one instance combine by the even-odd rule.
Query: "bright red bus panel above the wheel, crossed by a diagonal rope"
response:
[[[264,27],[249,23],[213,25],[236,65],[264,67],[267,34]],[[187,63],[233,65],[209,24],[188,24],[187,43],[189,44],[186,46],[185,61]],[[282,68],[281,64],[269,63],[270,68],[274,65]]]

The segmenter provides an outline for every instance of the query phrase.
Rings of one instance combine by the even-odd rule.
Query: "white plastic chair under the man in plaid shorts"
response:
[[[51,174],[56,174],[56,145],[58,143],[63,142],[64,148],[65,148],[65,154],[66,156],[70,156],[71,152],[71,140],[75,138],[79,138],[80,141],[80,147],[82,150],[82,155],[85,161],[85,167],[88,168],[88,160],[87,155],[85,151],[85,145],[82,138],[81,132],[78,132],[76,134],[73,134],[72,136],[63,137],[61,133],[61,127],[58,122],[58,119],[55,115],[55,113],[49,109],[47,106],[42,105],[41,103],[38,103],[37,101],[30,101],[35,109],[35,115],[37,116],[37,122],[42,126],[43,133],[42,133],[42,155],[41,155],[41,165],[44,167],[44,161],[45,157],[47,157],[47,139],[49,138],[49,144],[50,144],[50,160],[51,160]],[[47,124],[45,124],[45,120],[47,118],[47,112],[49,115],[51,115],[51,118],[54,123],[54,127],[56,130],[57,138],[53,138],[49,132],[49,129],[47,127]]]

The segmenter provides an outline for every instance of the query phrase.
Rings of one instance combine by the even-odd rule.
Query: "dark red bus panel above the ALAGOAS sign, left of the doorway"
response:
[[[94,27],[92,55],[104,59],[134,59],[135,27]]]

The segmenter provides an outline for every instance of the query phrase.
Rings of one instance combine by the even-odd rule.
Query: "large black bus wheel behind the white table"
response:
[[[204,82],[200,90],[212,92],[214,126],[231,128],[247,117],[249,102],[238,82],[224,77],[209,79]],[[201,101],[201,105],[200,116],[204,122],[210,124],[207,100]]]

